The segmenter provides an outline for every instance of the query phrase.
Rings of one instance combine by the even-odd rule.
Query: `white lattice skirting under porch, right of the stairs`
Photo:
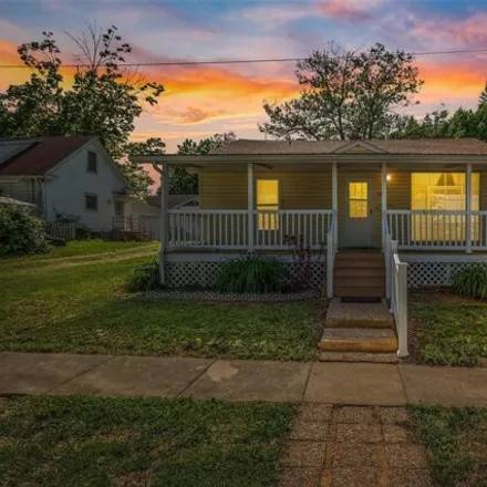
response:
[[[473,262],[408,262],[407,287],[427,288],[452,284],[452,276]]]

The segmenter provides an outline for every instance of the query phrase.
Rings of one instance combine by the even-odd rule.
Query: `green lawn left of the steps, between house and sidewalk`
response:
[[[155,251],[155,250],[154,250]],[[320,329],[315,302],[151,302],[124,290],[145,258],[117,256],[33,269],[2,265],[0,350],[307,360]],[[125,260],[122,260],[125,259]],[[59,259],[60,261],[62,259]]]

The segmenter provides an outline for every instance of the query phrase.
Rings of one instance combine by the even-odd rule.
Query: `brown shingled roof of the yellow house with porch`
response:
[[[400,138],[372,141],[252,141],[238,139],[211,154],[287,155],[332,154],[362,146],[396,155],[487,155],[487,143],[477,138]]]

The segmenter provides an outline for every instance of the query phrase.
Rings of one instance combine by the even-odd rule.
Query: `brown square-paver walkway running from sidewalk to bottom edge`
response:
[[[303,404],[280,463],[282,487],[432,487],[404,407]]]

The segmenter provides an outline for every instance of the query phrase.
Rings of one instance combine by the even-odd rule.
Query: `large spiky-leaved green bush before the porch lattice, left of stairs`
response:
[[[271,257],[250,253],[226,262],[217,280],[220,292],[281,292],[286,288],[286,268]]]

